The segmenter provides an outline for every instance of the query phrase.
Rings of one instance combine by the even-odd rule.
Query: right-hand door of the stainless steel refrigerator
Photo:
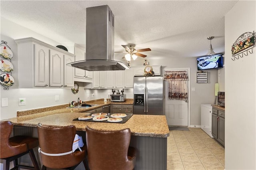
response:
[[[163,77],[146,77],[146,114],[163,115]]]

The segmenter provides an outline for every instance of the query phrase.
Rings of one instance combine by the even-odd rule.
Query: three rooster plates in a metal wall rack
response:
[[[12,77],[13,65],[11,63],[13,53],[11,48],[7,45],[7,42],[1,42],[2,43],[0,43],[0,55],[4,59],[0,60],[0,70],[4,73],[0,74],[0,85],[4,87],[4,90],[9,90],[9,87],[14,85],[14,78]]]

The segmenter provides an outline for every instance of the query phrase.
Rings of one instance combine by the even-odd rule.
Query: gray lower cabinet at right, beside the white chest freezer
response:
[[[212,109],[212,136],[225,146],[225,112],[219,109]]]

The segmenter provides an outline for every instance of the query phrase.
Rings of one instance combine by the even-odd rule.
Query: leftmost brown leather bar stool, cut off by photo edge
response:
[[[4,170],[9,170],[10,162],[14,161],[13,169],[30,169],[40,170],[33,148],[38,146],[38,138],[32,138],[29,136],[13,136],[10,138],[10,134],[13,129],[13,124],[10,121],[0,122],[0,159],[4,160]],[[34,167],[18,164],[18,158],[29,154]]]

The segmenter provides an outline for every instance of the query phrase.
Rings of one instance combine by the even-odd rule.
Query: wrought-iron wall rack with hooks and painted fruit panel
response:
[[[248,55],[248,52],[252,54],[252,48],[255,47],[255,31],[246,32],[242,34],[232,45],[232,60],[239,59]]]

